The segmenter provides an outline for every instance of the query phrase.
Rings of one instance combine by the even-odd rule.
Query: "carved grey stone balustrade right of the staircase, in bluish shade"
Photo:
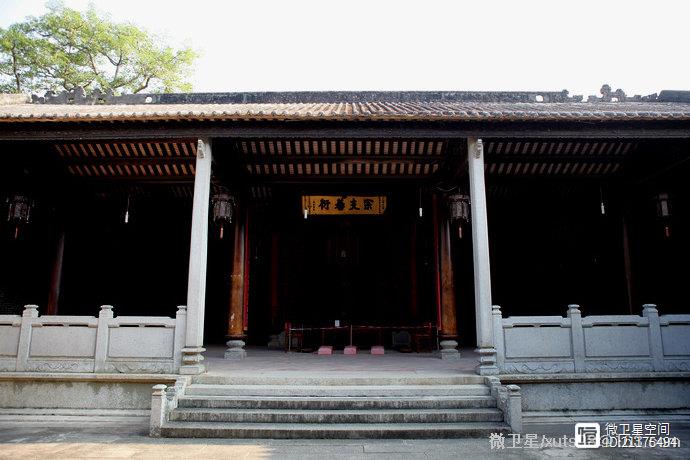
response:
[[[501,374],[690,371],[690,315],[503,318],[493,307],[496,364]]]

